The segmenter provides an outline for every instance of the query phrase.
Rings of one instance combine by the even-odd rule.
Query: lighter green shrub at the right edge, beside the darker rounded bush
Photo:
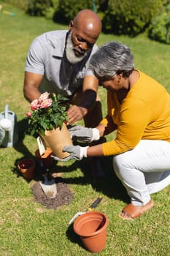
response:
[[[170,4],[153,18],[148,35],[151,39],[170,44]]]

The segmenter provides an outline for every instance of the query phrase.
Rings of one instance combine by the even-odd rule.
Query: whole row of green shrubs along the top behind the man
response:
[[[170,0],[1,0],[31,16],[68,24],[83,9],[98,13],[103,32],[131,37],[147,29],[150,39],[170,43]]]

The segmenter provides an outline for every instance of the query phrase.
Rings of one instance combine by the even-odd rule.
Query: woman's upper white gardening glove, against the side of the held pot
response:
[[[77,125],[69,129],[71,138],[84,142],[92,142],[93,140],[99,140],[100,134],[97,128],[86,128]]]

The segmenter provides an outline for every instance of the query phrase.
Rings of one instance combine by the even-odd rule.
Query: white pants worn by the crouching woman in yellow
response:
[[[113,157],[117,177],[131,197],[131,203],[143,206],[150,194],[170,184],[170,143],[140,140],[132,150]]]

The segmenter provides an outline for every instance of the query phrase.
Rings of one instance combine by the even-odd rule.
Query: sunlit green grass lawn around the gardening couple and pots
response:
[[[28,17],[7,4],[4,10],[15,12],[16,15],[12,17],[0,12],[0,112],[8,104],[9,109],[17,114],[20,140],[14,147],[0,148],[0,255],[91,255],[80,245],[68,222],[77,211],[85,211],[98,195],[102,195],[103,199],[96,210],[107,214],[109,226],[107,246],[96,255],[169,256],[170,188],[152,195],[155,207],[141,218],[131,222],[120,219],[118,214],[128,203],[128,197],[112,170],[110,157],[102,159],[107,173],[102,181],[93,181],[85,175],[84,160],[56,163],[55,170],[63,173],[63,181],[74,193],[74,200],[57,210],[34,202],[31,187],[36,179],[27,182],[17,168],[20,158],[34,158],[37,149],[36,139],[24,135],[24,117],[29,108],[23,98],[26,54],[34,37],[45,31],[67,27],[44,18]],[[130,46],[136,68],[152,75],[170,91],[169,45],[151,41],[145,34],[133,39],[101,34],[97,43],[101,45],[110,40]],[[106,92],[99,89],[99,94],[105,115]],[[112,135],[107,140],[112,140]]]

